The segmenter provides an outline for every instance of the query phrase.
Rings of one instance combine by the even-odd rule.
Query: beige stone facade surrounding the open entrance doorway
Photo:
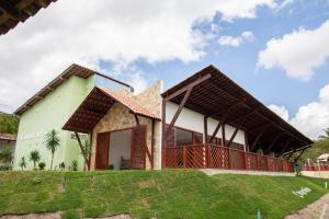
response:
[[[161,115],[161,91],[162,82],[158,81],[155,85],[150,87],[139,95],[133,96],[144,107],[151,111],[154,114],[160,117]],[[147,126],[146,143],[151,151],[151,119],[143,116],[138,116],[140,125]],[[97,136],[99,132],[106,132],[113,130],[121,130],[126,128],[136,127],[136,120],[134,115],[124,105],[114,104],[106,115],[95,125],[92,131],[92,157],[91,157],[91,170],[95,169],[95,150],[97,150]],[[155,169],[161,169],[161,122],[155,120],[155,151],[154,163]],[[111,146],[110,146],[111,147]],[[150,162],[146,155],[146,169],[150,169]]]

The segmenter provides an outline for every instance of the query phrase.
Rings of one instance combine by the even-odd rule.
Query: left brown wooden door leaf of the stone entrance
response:
[[[95,169],[106,170],[109,166],[110,132],[98,134]]]

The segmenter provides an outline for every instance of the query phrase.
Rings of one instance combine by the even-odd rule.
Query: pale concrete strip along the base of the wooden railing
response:
[[[295,176],[295,173],[286,172],[269,172],[269,171],[238,171],[238,170],[223,170],[223,169],[200,169],[207,175],[216,174],[247,174],[247,175],[273,175],[273,176]]]

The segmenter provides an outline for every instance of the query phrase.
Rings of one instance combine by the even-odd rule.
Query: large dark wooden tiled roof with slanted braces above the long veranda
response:
[[[229,147],[238,130],[247,134],[246,142],[249,151],[256,151],[258,146],[262,146],[264,152],[274,151],[279,155],[293,154],[296,151],[302,151],[302,154],[313,143],[309,138],[213,66],[202,69],[162,93],[162,97],[163,130],[166,128],[166,103],[170,101],[179,105],[172,120],[167,122],[169,126],[163,135],[162,146],[183,107],[205,115],[204,132],[206,136],[212,136],[209,142],[222,127],[224,147]],[[209,117],[219,120],[212,134],[207,134],[206,122]],[[230,139],[225,138],[225,124],[236,127]],[[207,141],[207,138],[205,139]]]

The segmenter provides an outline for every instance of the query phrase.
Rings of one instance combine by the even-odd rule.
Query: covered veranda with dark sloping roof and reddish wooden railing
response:
[[[313,141],[283,120],[256,97],[213,66],[208,66],[162,93],[162,166],[211,168],[292,172]],[[166,104],[178,104],[171,120],[166,120]],[[203,142],[175,146],[173,127],[183,108],[204,115]],[[208,132],[209,118],[218,120]],[[226,137],[226,125],[235,127]],[[222,131],[222,139],[216,135]],[[245,149],[235,149],[235,138],[245,131]],[[261,151],[261,152],[260,152]],[[293,162],[290,162],[292,155]]]

